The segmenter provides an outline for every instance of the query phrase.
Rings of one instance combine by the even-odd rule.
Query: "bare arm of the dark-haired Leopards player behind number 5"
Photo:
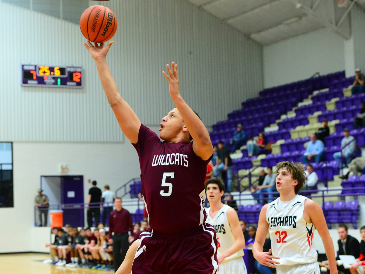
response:
[[[243,236],[241,226],[239,225],[237,212],[233,208],[227,210],[227,219],[232,230],[233,237],[236,241],[230,248],[228,248],[228,250],[217,255],[218,265],[220,265],[225,258],[242,250],[242,248],[245,247],[245,237]]]

